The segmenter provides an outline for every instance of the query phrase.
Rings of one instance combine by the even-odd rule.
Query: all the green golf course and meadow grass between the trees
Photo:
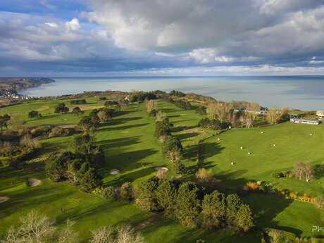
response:
[[[54,108],[60,102],[62,101],[32,101],[1,108],[0,112],[27,120],[26,126],[77,124],[80,118],[72,114],[54,114]],[[70,106],[69,101],[64,102]],[[85,114],[90,112],[91,107],[101,105],[98,97],[87,99]],[[181,139],[185,150],[183,162],[189,168],[187,177],[193,177],[197,165],[198,141],[211,136],[215,131],[197,127],[199,119],[204,116],[194,111],[182,110],[165,101],[158,101],[158,108],[166,112],[170,123],[173,123],[173,135]],[[42,118],[27,118],[27,112],[32,110],[42,113]],[[160,166],[168,168],[168,177],[179,177],[170,162],[161,155],[161,142],[154,137],[154,127],[154,119],[148,116],[145,105],[135,103],[122,108],[111,122],[96,130],[96,144],[102,147],[106,159],[104,168],[101,169],[105,186],[121,185],[126,181],[139,183],[155,175],[154,168]],[[42,140],[38,156],[46,158],[52,151],[68,149],[71,138],[72,136]],[[323,196],[324,179],[320,173],[317,173],[316,180],[310,182],[294,178],[277,179],[271,175],[274,171],[291,170],[294,163],[299,161],[312,163],[313,166],[320,165],[324,161],[323,139],[324,125],[282,123],[249,130],[237,128],[201,142],[199,163],[200,166],[211,169],[221,185],[230,189],[245,185],[249,180],[262,180],[292,192]],[[231,162],[235,162],[235,165],[232,166]],[[0,239],[10,225],[15,225],[18,218],[32,208],[56,218],[59,227],[67,218],[75,220],[75,227],[85,242],[91,230],[101,225],[130,223],[136,227],[151,217],[151,213],[144,213],[133,203],[106,201],[80,192],[77,187],[53,183],[44,175],[44,162],[38,163],[37,170],[0,167],[0,197],[10,197],[0,204]],[[109,174],[112,169],[118,169],[120,173]],[[42,183],[37,187],[27,187],[28,178],[37,178]],[[249,194],[244,201],[251,205],[258,228],[272,227],[299,236],[312,236],[313,225],[324,225],[323,211],[310,203],[266,194]],[[142,234],[148,243],[187,243],[196,242],[197,239],[222,243],[260,242],[254,234],[235,236],[230,230],[207,232],[186,228],[172,218],[156,220],[142,229]]]

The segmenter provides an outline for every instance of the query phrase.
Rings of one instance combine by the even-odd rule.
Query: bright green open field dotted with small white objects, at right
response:
[[[206,139],[201,150],[204,166],[211,168],[227,187],[235,188],[249,180],[261,180],[280,189],[315,197],[324,194],[324,177],[319,172],[316,180],[310,182],[295,178],[276,179],[271,174],[273,171],[292,170],[294,163],[299,161],[319,165],[324,157],[323,142],[323,125],[282,123],[250,130],[233,129]],[[232,161],[235,166],[231,165]]]

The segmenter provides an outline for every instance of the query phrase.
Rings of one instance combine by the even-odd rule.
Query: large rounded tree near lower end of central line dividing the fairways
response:
[[[167,136],[162,145],[162,154],[170,159],[171,163],[178,161],[182,154],[180,139],[175,136]]]

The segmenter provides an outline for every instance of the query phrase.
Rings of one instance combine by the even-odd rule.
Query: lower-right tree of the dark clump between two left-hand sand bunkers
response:
[[[83,192],[92,192],[94,188],[102,184],[101,177],[89,163],[82,163],[80,170],[77,171],[77,177],[79,178],[80,189]]]

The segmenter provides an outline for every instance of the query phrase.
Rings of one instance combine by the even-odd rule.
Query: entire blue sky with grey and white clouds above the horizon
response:
[[[324,0],[0,1],[22,75],[324,75]]]

